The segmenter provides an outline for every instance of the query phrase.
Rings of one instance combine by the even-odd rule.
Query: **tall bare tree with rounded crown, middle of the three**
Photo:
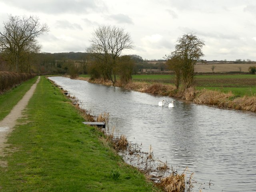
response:
[[[103,64],[104,71],[102,72],[114,85],[117,58],[123,50],[134,48],[130,34],[126,33],[124,28],[102,25],[94,30],[90,42],[91,45],[87,48],[87,52],[92,54],[94,60]]]

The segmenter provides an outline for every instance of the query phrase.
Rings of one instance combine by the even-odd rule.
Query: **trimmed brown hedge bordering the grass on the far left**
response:
[[[36,74],[30,73],[14,73],[14,72],[0,72],[0,94],[28,79],[33,78]]]

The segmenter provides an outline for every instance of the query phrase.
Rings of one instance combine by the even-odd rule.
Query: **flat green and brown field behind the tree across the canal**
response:
[[[133,75],[134,81],[162,82],[173,84],[174,75]],[[256,94],[256,75],[196,75],[194,76],[196,89],[220,90],[232,92],[239,96],[253,96]]]

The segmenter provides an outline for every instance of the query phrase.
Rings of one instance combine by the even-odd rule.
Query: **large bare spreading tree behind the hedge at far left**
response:
[[[41,50],[36,38],[48,31],[47,24],[41,25],[37,17],[9,16],[4,22],[3,32],[0,32],[0,46],[13,71],[29,72],[28,57]]]

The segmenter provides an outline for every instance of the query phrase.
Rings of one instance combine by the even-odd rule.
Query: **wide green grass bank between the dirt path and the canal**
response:
[[[157,191],[99,139],[102,133],[81,123],[70,100],[46,78],[26,115],[8,139],[13,152],[5,157],[8,167],[0,167],[1,191]]]

